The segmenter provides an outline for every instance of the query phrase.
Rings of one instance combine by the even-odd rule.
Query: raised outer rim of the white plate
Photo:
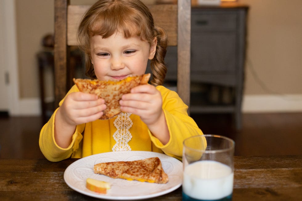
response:
[[[140,199],[148,199],[148,198],[153,198],[153,197],[158,197],[158,196],[161,196],[161,195],[165,195],[165,194],[168,194],[176,189],[178,189],[181,185],[182,185],[182,175],[181,175],[181,182],[177,183],[176,185],[174,185],[173,187],[167,189],[167,190],[164,190],[164,191],[159,191],[157,193],[153,193],[153,194],[148,194],[148,195],[135,195],[135,196],[108,196],[106,194],[97,194],[97,193],[94,193],[93,191],[90,192],[87,192],[87,191],[83,191],[81,189],[78,189],[74,186],[72,186],[68,181],[67,181],[67,173],[69,173],[68,171],[70,169],[73,168],[73,166],[76,166],[78,163],[81,164],[81,162],[85,161],[85,160],[88,160],[89,158],[95,158],[97,157],[98,155],[102,156],[102,155],[106,155],[106,157],[108,157],[108,155],[118,155],[118,154],[123,154],[123,155],[129,155],[129,156],[144,156],[144,155],[154,155],[154,156],[150,156],[150,157],[159,157],[159,158],[169,158],[169,159],[172,159],[173,161],[175,161],[175,163],[177,165],[181,165],[182,166],[182,162],[179,161],[178,159],[176,158],[173,158],[171,156],[168,156],[168,155],[165,155],[165,154],[162,154],[162,153],[158,153],[158,152],[153,152],[153,151],[116,151],[116,152],[104,152],[104,153],[100,153],[100,154],[94,154],[94,155],[90,155],[90,156],[86,156],[84,158],[80,158],[78,160],[76,160],[75,162],[71,163],[64,171],[64,181],[65,183],[67,184],[68,187],[70,187],[71,189],[73,189],[74,191],[77,191],[81,194],[84,194],[84,195],[88,195],[90,197],[95,197],[95,198],[99,198],[99,199],[107,199],[107,200],[140,200]],[[146,158],[149,158],[146,157]],[[76,167],[75,167],[76,168]]]

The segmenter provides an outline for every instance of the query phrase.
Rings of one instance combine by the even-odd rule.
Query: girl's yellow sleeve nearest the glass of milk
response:
[[[194,135],[203,135],[203,133],[195,121],[188,115],[188,106],[183,103],[176,92],[164,86],[157,86],[157,90],[162,95],[162,108],[165,113],[170,140],[167,144],[163,145],[149,131],[150,138],[155,146],[160,148],[166,155],[181,159],[183,140]]]

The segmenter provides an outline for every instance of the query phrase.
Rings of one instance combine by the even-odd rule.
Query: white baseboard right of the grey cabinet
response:
[[[302,94],[245,95],[242,112],[302,112]]]

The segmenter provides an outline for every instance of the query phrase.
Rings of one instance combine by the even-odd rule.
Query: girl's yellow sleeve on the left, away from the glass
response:
[[[67,93],[72,93],[77,91],[77,87],[73,86],[71,90]],[[59,106],[62,105],[64,99],[59,103]],[[72,135],[72,142],[67,148],[62,148],[57,145],[54,137],[54,128],[55,128],[55,114],[58,109],[52,114],[49,121],[42,127],[39,137],[39,146],[40,149],[49,161],[61,161],[67,159],[71,154],[78,150],[80,141],[82,140],[82,132],[84,131],[85,124],[76,126],[76,131]]]

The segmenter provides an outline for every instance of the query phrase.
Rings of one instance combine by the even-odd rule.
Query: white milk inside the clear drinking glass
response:
[[[231,200],[234,172],[231,167],[211,160],[202,160],[185,167],[183,201]]]

